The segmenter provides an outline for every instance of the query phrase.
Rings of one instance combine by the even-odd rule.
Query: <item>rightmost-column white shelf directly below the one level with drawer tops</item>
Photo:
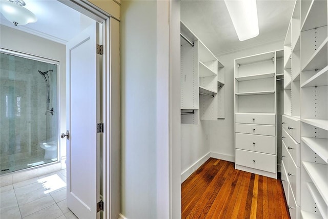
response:
[[[318,154],[328,164],[328,139],[315,137],[302,137],[302,141],[311,150]]]

